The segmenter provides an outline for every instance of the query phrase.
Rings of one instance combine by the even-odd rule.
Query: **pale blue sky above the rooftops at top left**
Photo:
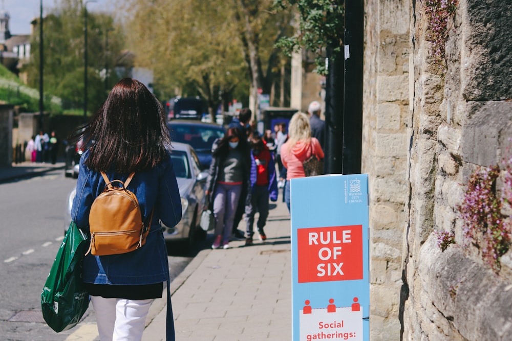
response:
[[[42,12],[46,15],[49,9],[55,7],[58,0],[42,0]],[[89,11],[100,11],[108,8],[112,0],[96,0],[89,3]],[[11,16],[9,30],[11,34],[30,34],[30,21],[39,17],[40,0],[0,0],[0,9],[5,10]]]

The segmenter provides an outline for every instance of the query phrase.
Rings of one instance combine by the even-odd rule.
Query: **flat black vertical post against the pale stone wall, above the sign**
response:
[[[343,174],[361,172],[364,22],[363,1],[346,1]]]

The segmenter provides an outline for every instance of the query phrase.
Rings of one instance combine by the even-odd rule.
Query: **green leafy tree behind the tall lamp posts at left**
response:
[[[44,18],[44,88],[45,92],[61,97],[65,108],[83,106],[84,8],[80,0],[62,0]],[[109,35],[109,52],[105,51],[105,33]],[[122,31],[113,18],[105,13],[88,12],[88,109],[97,110],[108,95],[104,90],[101,71],[114,64],[124,44]],[[29,85],[39,82],[39,28],[32,36],[30,63],[24,67]],[[104,72],[103,72],[104,74]],[[102,84],[98,87],[98,84]],[[80,96],[81,95],[81,96]]]

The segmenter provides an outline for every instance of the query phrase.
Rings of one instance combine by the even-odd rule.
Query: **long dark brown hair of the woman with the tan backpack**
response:
[[[160,102],[144,84],[121,79],[80,136],[91,143],[86,165],[130,173],[155,167],[170,150]]]

